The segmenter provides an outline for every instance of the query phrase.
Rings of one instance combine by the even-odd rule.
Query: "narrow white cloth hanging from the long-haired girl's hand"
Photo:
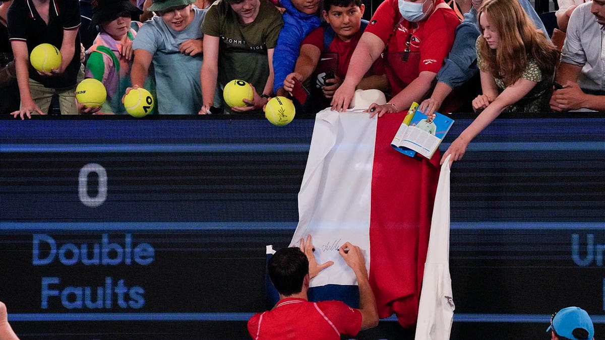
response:
[[[450,157],[441,166],[435,195],[416,340],[450,339],[454,319],[450,277]]]

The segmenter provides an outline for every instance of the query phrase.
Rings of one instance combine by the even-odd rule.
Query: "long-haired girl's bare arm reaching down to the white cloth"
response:
[[[441,163],[443,163],[450,154],[452,155],[451,162],[462,159],[462,156],[466,152],[466,146],[468,146],[468,143],[470,143],[471,140],[473,140],[473,138],[479,134],[479,132],[483,131],[486,126],[488,126],[496,117],[498,117],[500,113],[505,110],[505,108],[525,97],[525,95],[528,94],[536,84],[537,82],[532,82],[531,80],[521,78],[514,84],[505,88],[505,90],[502,91],[499,96],[495,97],[493,102],[487,105],[485,110],[479,114],[473,123],[462,131],[460,136],[458,136],[458,138],[451,143],[450,148],[448,148],[447,151],[445,151],[445,154],[443,154]],[[485,95],[486,92],[489,93],[489,89],[488,91],[485,91],[484,89],[483,95]]]

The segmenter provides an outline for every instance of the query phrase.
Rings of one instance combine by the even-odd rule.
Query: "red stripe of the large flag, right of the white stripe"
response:
[[[407,111],[405,112],[407,113]],[[416,324],[437,181],[439,151],[431,160],[403,155],[391,140],[405,113],[378,119],[370,208],[370,284],[378,313]]]

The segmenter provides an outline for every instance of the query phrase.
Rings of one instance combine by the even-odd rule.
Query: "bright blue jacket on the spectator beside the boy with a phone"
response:
[[[273,51],[273,93],[284,86],[286,76],[294,71],[302,39],[318,28],[320,23],[319,16],[298,11],[290,0],[281,0],[281,5],[286,8],[286,12],[283,16],[284,27]]]

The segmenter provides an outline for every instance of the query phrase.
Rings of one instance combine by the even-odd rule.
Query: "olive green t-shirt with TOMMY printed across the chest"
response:
[[[201,25],[209,36],[220,38],[218,45],[218,86],[233,79],[246,80],[257,89],[263,89],[269,77],[267,49],[275,48],[284,25],[281,13],[267,0],[260,0],[257,18],[241,24],[229,2],[214,2]]]

